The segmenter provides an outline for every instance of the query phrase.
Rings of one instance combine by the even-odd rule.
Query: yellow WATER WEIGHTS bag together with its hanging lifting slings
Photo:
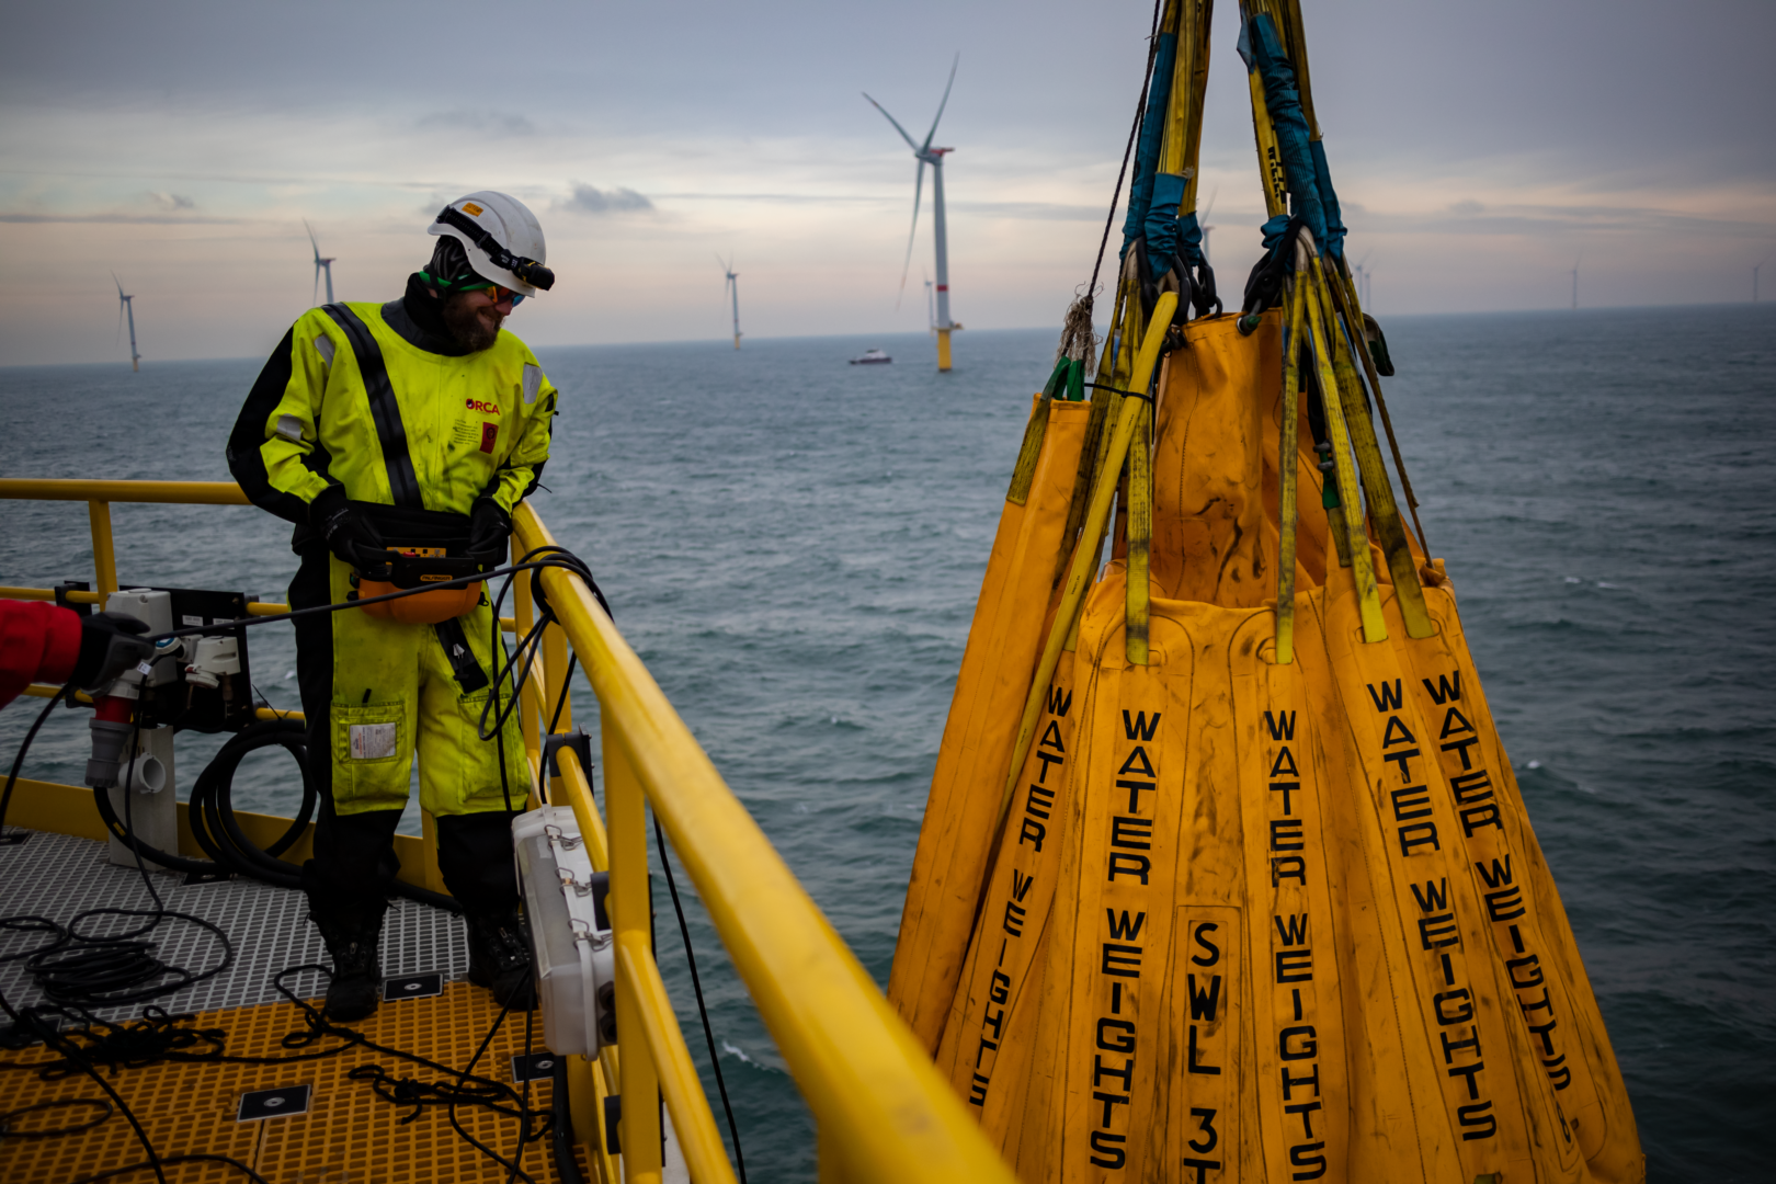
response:
[[[1092,401],[1050,380],[1025,430],[890,1001],[1030,1184],[1645,1180],[1424,550],[1298,4],[1240,21],[1266,254],[1224,312],[1209,4],[1167,0]]]

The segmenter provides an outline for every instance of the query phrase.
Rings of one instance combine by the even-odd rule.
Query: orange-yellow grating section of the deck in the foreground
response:
[[[444,994],[428,999],[384,1003],[368,1021],[352,1024],[377,1044],[416,1053],[428,1060],[462,1067],[474,1056],[487,1030],[499,1015],[487,991],[465,982],[449,983]],[[291,1056],[281,1047],[289,1031],[305,1028],[302,1014],[289,1003],[201,1012],[194,1028],[222,1028],[224,1051],[231,1056]],[[535,1014],[531,1049],[543,1051],[542,1014]],[[337,1047],[327,1040],[321,1047]],[[313,1046],[311,1049],[313,1051]],[[496,1081],[511,1079],[511,1056],[524,1053],[524,1015],[511,1014],[481,1054],[476,1072]],[[59,1056],[43,1046],[11,1053],[12,1065],[43,1065]],[[458,1180],[504,1180],[506,1170],[474,1150],[458,1136],[444,1108],[428,1106],[419,1118],[401,1124],[410,1108],[387,1102],[369,1081],[352,1081],[357,1065],[377,1063],[394,1076],[437,1081],[442,1074],[382,1053],[353,1047],[334,1056],[282,1065],[176,1063],[162,1062],[147,1069],[119,1069],[108,1077],[135,1111],[162,1157],[188,1154],[231,1156],[272,1184],[455,1184]],[[236,1122],[242,1093],[289,1085],[311,1085],[309,1111],[289,1118]],[[531,1083],[531,1104],[547,1113],[551,1086]],[[103,1097],[103,1090],[85,1074],[43,1081],[36,1070],[0,1070],[0,1113],[32,1102],[73,1097]],[[48,1109],[25,1115],[12,1124],[18,1133],[80,1124],[96,1109]],[[480,1106],[458,1106],[456,1120],[474,1138],[510,1157],[519,1138],[519,1122]],[[85,1134],[60,1138],[5,1138],[0,1154],[0,1180],[7,1184],[44,1184],[76,1180],[96,1172],[144,1163],[140,1141],[121,1113]],[[542,1184],[556,1180],[554,1157],[547,1138],[524,1150],[524,1172]],[[224,1163],[199,1161],[167,1166],[170,1184],[238,1182],[247,1177]],[[581,1172],[590,1180],[584,1157]],[[110,1180],[151,1180],[153,1172],[107,1177]]]

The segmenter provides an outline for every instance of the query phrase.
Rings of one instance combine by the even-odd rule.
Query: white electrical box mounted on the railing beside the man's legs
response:
[[[597,1056],[616,1044],[616,950],[604,902],[611,880],[591,870],[567,806],[513,818],[511,849],[524,884],[543,1042],[558,1056]]]

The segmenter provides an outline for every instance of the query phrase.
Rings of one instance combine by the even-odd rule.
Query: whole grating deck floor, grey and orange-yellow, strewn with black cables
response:
[[[446,1074],[369,1049],[343,1047],[339,1040],[316,1047],[343,1051],[313,1060],[293,1060],[313,1047],[281,1046],[286,1033],[304,1031],[305,1024],[295,1005],[275,992],[272,975],[284,966],[325,962],[325,948],[305,920],[300,893],[240,880],[185,886],[183,877],[170,873],[155,875],[155,886],[169,909],[220,925],[234,941],[236,962],[226,975],[151,1003],[174,1014],[195,1012],[195,1022],[188,1026],[220,1028],[229,1056],[282,1060],[275,1065],[160,1062],[110,1072],[107,1081],[135,1111],[162,1157],[229,1156],[274,1184],[506,1179],[504,1168],[451,1129],[442,1108],[426,1108],[416,1120],[401,1122],[410,1108],[384,1101],[369,1081],[346,1076],[366,1063],[419,1081],[451,1079]],[[101,905],[151,905],[135,868],[105,861],[105,843],[37,833],[20,847],[0,849],[0,914],[37,914],[66,925],[76,912]],[[124,928],[131,921],[112,918],[105,923]],[[94,925],[91,932],[105,930]],[[194,925],[167,921],[155,937],[163,960],[210,966],[217,957],[215,939]],[[41,941],[41,934],[5,934],[0,937],[0,957]],[[467,971],[467,939],[456,918],[396,902],[384,928],[382,959],[384,973],[391,976],[442,971],[446,980],[456,980]],[[320,991],[321,976],[293,976],[291,985],[298,994],[311,996]],[[39,999],[16,962],[0,964],[0,991],[14,1006]],[[108,1008],[101,1015],[126,1021],[140,1015],[142,1006]],[[467,982],[451,982],[440,996],[384,1003],[373,1017],[352,1028],[377,1044],[455,1069],[469,1063],[497,1015],[488,992]],[[527,1051],[524,1019],[522,1014],[506,1017],[476,1065],[481,1076],[511,1079],[511,1056]],[[535,1014],[531,1037],[529,1051],[542,1053],[540,1012]],[[43,1046],[23,1053],[0,1051],[0,1113],[55,1099],[103,1097],[98,1085],[78,1070],[41,1074],[41,1067],[57,1060]],[[313,1086],[305,1113],[236,1120],[243,1093],[295,1085]],[[549,1095],[547,1081],[531,1085],[535,1108],[547,1109]],[[85,1108],[34,1111],[14,1118],[11,1127],[16,1134],[28,1134],[78,1124],[96,1113]],[[458,1108],[456,1118],[474,1138],[503,1156],[511,1154],[519,1138],[517,1118],[478,1106]],[[119,1113],[83,1134],[5,1138],[0,1131],[0,1184],[78,1180],[144,1159],[140,1141]],[[581,1166],[586,1172],[586,1164]],[[547,1140],[527,1145],[522,1168],[538,1184],[556,1179]],[[169,1184],[234,1184],[245,1179],[236,1168],[215,1161],[169,1164],[165,1175]],[[153,1173],[144,1163],[139,1172],[107,1179],[151,1180]],[[586,1179],[593,1177],[588,1173]]]

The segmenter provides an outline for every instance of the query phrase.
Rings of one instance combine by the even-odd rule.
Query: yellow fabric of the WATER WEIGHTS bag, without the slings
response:
[[[984,754],[1007,749],[1011,669],[1035,648],[1007,632],[1041,632],[1051,563],[995,549],[895,1001],[1032,1182],[1641,1179],[1455,596],[1426,588],[1433,632],[1410,637],[1375,550],[1385,639],[1364,641],[1311,513],[1305,422],[1302,534],[1321,543],[1298,550],[1277,660],[1277,320],[1197,321],[1170,355],[1147,662],[1126,655],[1115,563],[1041,691],[1003,825]],[[1043,575],[1023,605],[1018,572]],[[934,1021],[911,985],[941,983],[945,928],[968,937]]]

